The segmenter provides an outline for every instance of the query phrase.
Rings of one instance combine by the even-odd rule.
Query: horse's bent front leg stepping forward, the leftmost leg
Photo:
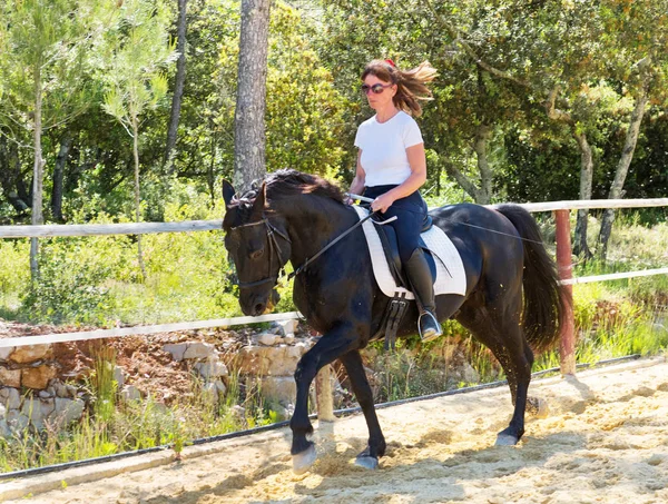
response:
[[[353,326],[342,323],[325,333],[306,354],[302,356],[295,372],[297,385],[297,401],[295,413],[289,421],[293,432],[291,454],[293,455],[293,471],[304,473],[315,462],[315,447],[306,436],[313,433],[313,425],[308,419],[308,389],[317,372],[334,362],[343,354],[355,349],[358,338],[355,337]]]

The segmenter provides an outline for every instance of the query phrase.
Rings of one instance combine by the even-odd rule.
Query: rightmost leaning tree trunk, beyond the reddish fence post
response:
[[[641,88],[640,96],[636,100],[636,108],[631,113],[631,120],[629,129],[627,130],[626,140],[623,142],[623,150],[621,157],[617,164],[617,171],[615,172],[615,180],[610,187],[608,194],[609,199],[618,199],[622,196],[623,182],[627,174],[629,172],[629,166],[633,159],[633,151],[638,142],[638,135],[640,132],[640,123],[645,116],[645,109],[649,101],[647,89],[645,86]],[[610,239],[610,233],[612,231],[612,223],[615,221],[615,210],[611,208],[606,209],[603,213],[603,220],[601,221],[601,230],[599,233],[599,255],[601,258],[606,258],[608,254],[608,240]]]

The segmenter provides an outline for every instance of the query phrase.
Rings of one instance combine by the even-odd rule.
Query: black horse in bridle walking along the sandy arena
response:
[[[224,182],[223,194],[225,247],[236,266],[239,304],[246,315],[267,309],[287,260],[297,269],[358,221],[338,187],[295,170],[267,176],[261,189],[240,198]],[[460,251],[466,273],[465,296],[436,297],[439,319],[459,320],[503,366],[514,413],[497,444],[517,444],[524,433],[524,411],[537,407],[537,399],[527,396],[532,348],[554,343],[568,303],[554,263],[536,221],[521,207],[462,204],[430,215]],[[369,426],[369,445],[356,463],[376,467],[386,445],[360,350],[377,333],[390,298],[374,279],[361,227],[295,277],[294,302],[308,325],[323,335],[295,372],[297,397],[289,423],[294,470],[306,471],[315,461],[315,447],[306,438],[313,432],[308,388],[317,372],[335,359],[344,365]],[[399,336],[415,334],[419,314],[411,305]]]

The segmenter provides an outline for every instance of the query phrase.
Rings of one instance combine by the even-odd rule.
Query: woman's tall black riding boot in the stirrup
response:
[[[420,318],[418,329],[423,342],[431,342],[443,334],[436,318],[434,285],[426,257],[421,248],[416,248],[407,263],[404,264],[409,283],[411,284]]]

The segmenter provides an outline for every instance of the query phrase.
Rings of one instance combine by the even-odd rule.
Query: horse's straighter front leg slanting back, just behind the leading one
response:
[[[364,373],[362,356],[358,350],[351,350],[338,357],[345,366],[345,370],[351,379],[353,393],[362,407],[366,426],[369,427],[369,443],[366,448],[357,455],[355,464],[370,470],[375,470],[379,466],[379,457],[385,454],[385,437],[381,431],[381,424],[376,416],[373,405],[373,393],[369,385],[369,379]]]

